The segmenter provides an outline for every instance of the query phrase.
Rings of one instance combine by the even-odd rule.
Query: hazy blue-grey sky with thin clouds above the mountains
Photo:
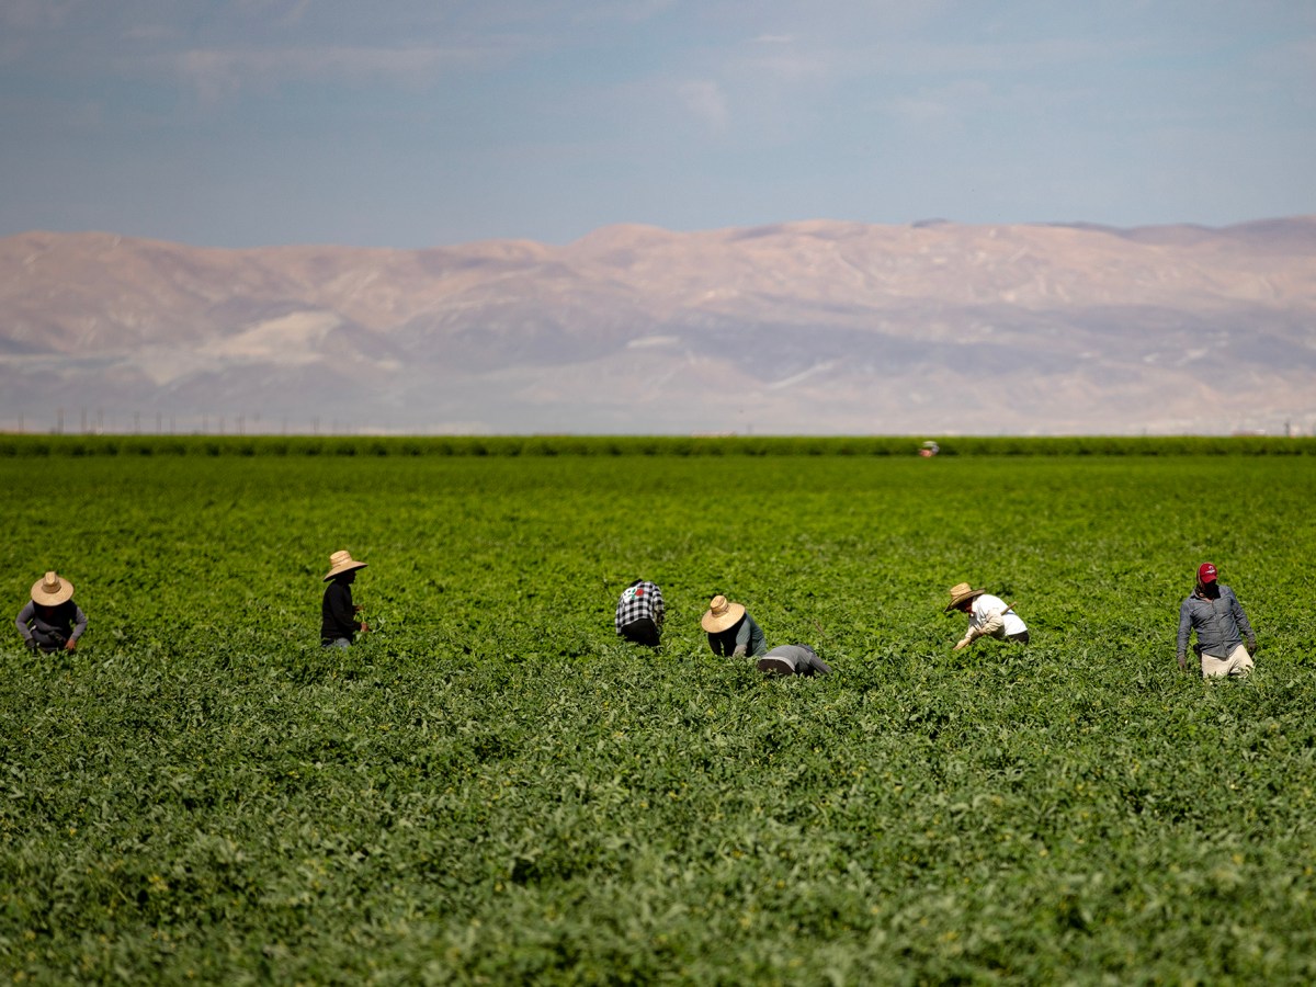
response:
[[[1316,213],[1313,0],[0,0],[0,236]]]

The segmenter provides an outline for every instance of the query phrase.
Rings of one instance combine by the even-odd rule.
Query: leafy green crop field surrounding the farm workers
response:
[[[0,599],[91,622],[0,646],[0,978],[1309,983],[1316,457],[1134,446],[11,440]],[[1246,682],[1175,666],[1204,559]]]

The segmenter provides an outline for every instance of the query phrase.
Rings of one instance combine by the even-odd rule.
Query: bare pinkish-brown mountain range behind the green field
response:
[[[1316,217],[803,221],[565,246],[0,240],[0,426],[1316,428]]]

